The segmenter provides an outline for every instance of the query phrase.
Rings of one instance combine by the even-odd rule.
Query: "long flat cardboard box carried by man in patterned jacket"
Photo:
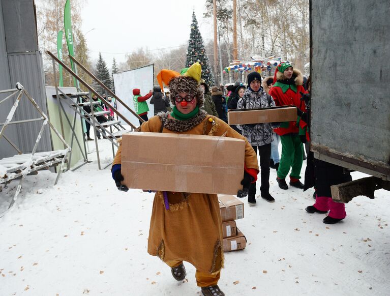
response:
[[[261,109],[233,109],[227,112],[229,125],[296,121],[295,107],[280,106]]]

